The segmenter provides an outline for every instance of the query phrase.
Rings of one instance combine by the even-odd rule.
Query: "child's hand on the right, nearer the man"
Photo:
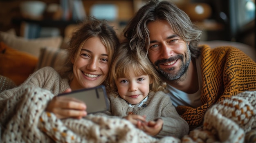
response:
[[[157,119],[157,121],[148,121],[148,123],[141,123],[144,132],[148,135],[157,135],[163,127],[164,121],[162,119]]]

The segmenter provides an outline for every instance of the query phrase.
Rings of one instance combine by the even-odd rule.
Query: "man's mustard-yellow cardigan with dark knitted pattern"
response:
[[[256,90],[256,63],[245,53],[232,46],[202,47],[202,106],[178,106],[193,129],[202,124],[206,110],[226,98],[247,90]]]

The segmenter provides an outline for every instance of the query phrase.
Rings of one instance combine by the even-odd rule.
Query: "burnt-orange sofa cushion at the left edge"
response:
[[[8,77],[17,86],[24,82],[36,68],[38,58],[13,49],[0,42],[0,75]]]

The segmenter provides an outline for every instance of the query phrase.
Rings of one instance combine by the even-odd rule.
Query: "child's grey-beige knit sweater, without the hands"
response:
[[[120,96],[108,96],[109,110],[99,112],[96,115],[101,116],[117,116],[125,117],[127,114],[146,115],[146,121],[154,121],[161,118],[163,121],[162,130],[155,136],[161,138],[163,136],[176,136],[182,138],[189,132],[188,123],[180,117],[175,110],[170,97],[164,92],[150,92],[148,99],[141,107],[130,107],[129,104]]]

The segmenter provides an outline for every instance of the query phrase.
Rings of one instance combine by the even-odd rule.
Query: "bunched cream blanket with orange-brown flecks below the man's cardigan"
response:
[[[202,129],[193,130],[182,143],[255,143],[256,91],[245,91],[207,110]]]

